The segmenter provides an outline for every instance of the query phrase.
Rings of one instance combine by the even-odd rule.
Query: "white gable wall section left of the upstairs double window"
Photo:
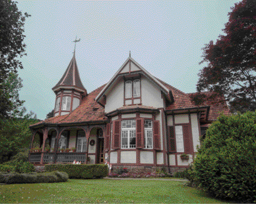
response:
[[[106,93],[107,101],[105,105],[105,112],[114,111],[124,104],[124,81],[120,80],[116,82],[108,93]]]

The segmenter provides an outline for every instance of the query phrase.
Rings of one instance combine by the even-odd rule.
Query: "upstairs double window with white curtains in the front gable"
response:
[[[141,104],[140,79],[125,81],[125,105]]]

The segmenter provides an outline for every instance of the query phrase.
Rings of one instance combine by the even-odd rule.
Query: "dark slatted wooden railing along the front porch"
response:
[[[29,162],[40,163],[42,152],[30,153]],[[54,163],[54,152],[43,153],[43,163]],[[86,163],[87,153],[57,152],[56,163],[73,163],[74,160]]]

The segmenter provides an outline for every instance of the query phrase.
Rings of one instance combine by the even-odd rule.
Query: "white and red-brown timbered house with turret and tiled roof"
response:
[[[87,93],[74,54],[52,90],[54,117],[30,126],[31,150],[35,143],[41,150],[31,151],[29,161],[38,165],[76,160],[107,162],[114,171],[167,168],[173,173],[193,161],[200,136],[220,112],[230,114],[217,101],[194,105],[191,93],[152,76],[131,56],[107,84]],[[182,160],[184,153],[189,158]]]

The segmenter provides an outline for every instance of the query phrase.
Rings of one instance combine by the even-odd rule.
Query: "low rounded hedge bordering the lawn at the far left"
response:
[[[56,183],[68,180],[66,172],[52,171],[48,173],[9,173],[0,174],[0,183]]]

